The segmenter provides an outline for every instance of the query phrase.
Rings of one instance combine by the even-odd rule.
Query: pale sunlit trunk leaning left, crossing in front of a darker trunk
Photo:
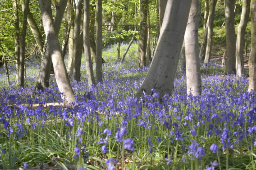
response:
[[[53,27],[54,22],[52,19],[51,2],[49,0],[39,0],[39,6],[42,12],[44,32],[52,58],[55,79],[61,93],[61,99],[67,101],[68,103],[72,103],[76,99],[68,78],[68,72],[66,70],[65,63],[61,57],[61,49],[58,36]]]

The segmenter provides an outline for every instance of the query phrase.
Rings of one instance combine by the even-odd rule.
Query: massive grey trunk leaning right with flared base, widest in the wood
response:
[[[158,92],[160,100],[171,94],[190,5],[191,0],[168,0],[156,53],[137,98],[143,97],[143,92],[152,94],[151,89]]]

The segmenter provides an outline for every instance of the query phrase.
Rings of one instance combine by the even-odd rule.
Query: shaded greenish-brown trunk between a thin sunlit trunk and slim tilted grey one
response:
[[[72,64],[73,66],[70,67],[69,75],[73,75],[73,80],[80,81],[81,76],[81,59],[82,59],[82,48],[83,48],[83,42],[81,43],[80,37],[80,27],[81,27],[81,16],[82,16],[82,9],[84,0],[79,0],[77,7],[76,7],[76,15],[75,15],[75,21],[74,21],[74,40],[73,40],[73,60]],[[83,39],[82,39],[83,41]]]

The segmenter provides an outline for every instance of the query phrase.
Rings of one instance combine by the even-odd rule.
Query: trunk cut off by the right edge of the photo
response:
[[[256,0],[251,0],[252,48],[249,57],[249,92],[256,92]]]

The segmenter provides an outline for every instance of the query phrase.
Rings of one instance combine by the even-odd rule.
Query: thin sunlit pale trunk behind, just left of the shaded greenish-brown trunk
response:
[[[68,0],[67,4],[68,12],[68,26],[70,26],[69,38],[68,38],[68,72],[71,70],[71,64],[73,60],[73,40],[74,40],[74,6],[73,0]]]

